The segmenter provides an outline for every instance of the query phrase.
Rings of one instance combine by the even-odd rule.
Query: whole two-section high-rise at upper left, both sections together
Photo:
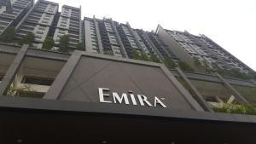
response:
[[[61,13],[59,4],[44,0],[38,2],[29,11],[26,17],[17,26],[15,38],[22,39],[27,33],[35,35],[33,46],[41,49],[46,37],[53,37],[55,47],[58,49],[60,37],[68,35],[69,47],[75,48],[81,43],[81,9],[63,5]]]

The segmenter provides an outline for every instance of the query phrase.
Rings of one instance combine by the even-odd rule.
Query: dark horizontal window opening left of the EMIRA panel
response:
[[[53,78],[40,78],[33,76],[24,76],[21,80],[23,84],[38,84],[38,85],[51,85],[54,82]]]

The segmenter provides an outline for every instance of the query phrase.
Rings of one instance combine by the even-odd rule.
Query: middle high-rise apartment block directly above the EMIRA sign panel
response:
[[[150,42],[146,32],[131,28],[112,19],[84,18],[84,45],[86,51],[133,58],[138,54],[157,55],[157,49]]]

